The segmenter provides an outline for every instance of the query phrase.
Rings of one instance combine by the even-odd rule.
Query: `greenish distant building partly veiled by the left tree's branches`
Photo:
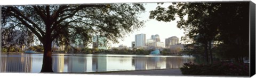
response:
[[[108,47],[107,47],[106,40],[107,40],[106,37],[94,36],[92,39],[92,47],[107,50]]]

